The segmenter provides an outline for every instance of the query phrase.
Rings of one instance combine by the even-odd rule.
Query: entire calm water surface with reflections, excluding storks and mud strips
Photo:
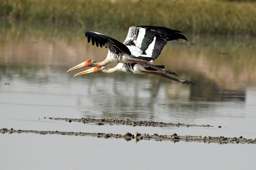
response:
[[[189,42],[168,43],[154,63],[172,69],[181,80],[196,82],[192,86],[145,74],[73,77],[85,69],[66,74],[86,59],[102,61],[107,55],[105,47],[87,43],[84,31],[88,30],[72,34],[68,28],[2,26],[0,128],[256,138],[255,38],[184,34]],[[127,34],[101,33],[121,42]],[[213,127],[97,126],[49,117],[128,118]],[[153,140],[135,144],[88,136],[6,133],[0,134],[0,140],[1,169],[249,169],[255,165],[256,145],[252,144]]]

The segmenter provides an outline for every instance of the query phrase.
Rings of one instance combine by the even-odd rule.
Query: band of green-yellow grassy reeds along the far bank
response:
[[[0,17],[31,23],[256,36],[256,2],[225,0],[0,0]]]

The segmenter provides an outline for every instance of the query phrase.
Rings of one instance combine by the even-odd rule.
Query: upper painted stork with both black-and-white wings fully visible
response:
[[[98,47],[106,46],[108,48],[107,58],[102,62],[96,62],[95,60],[86,60],[81,64],[69,69],[69,71],[83,68],[83,67],[95,67],[104,66],[111,62],[118,63],[137,63],[144,66],[150,66],[164,73],[174,74],[171,70],[164,70],[153,64],[164,45],[168,41],[187,38],[183,36],[180,31],[171,30],[165,27],[157,26],[133,26],[129,28],[128,35],[121,43],[111,37],[105,36],[96,32],[85,32],[85,36],[88,37],[88,42],[92,40],[92,45],[96,44]]]

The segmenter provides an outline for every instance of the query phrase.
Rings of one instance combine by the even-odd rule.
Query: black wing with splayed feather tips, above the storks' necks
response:
[[[100,47],[106,45],[106,48],[108,48],[113,53],[127,53],[131,55],[131,51],[127,46],[111,37],[92,31],[85,32],[85,37],[88,37],[88,42],[92,40],[92,45],[96,43],[97,47],[99,45]]]

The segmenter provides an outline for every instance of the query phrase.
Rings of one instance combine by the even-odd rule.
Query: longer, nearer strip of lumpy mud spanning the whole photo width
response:
[[[176,133],[172,135],[158,135],[154,133],[153,135],[149,134],[140,134],[135,132],[135,134],[131,134],[126,132],[124,134],[112,134],[112,133],[87,133],[87,132],[65,132],[65,131],[37,131],[37,130],[14,130],[14,129],[7,129],[2,128],[0,129],[1,133],[36,133],[36,134],[61,134],[61,135],[75,135],[75,136],[95,136],[95,137],[103,137],[103,138],[123,138],[126,141],[134,140],[136,143],[140,140],[156,140],[156,141],[186,141],[186,142],[204,142],[204,143],[218,143],[218,144],[226,144],[226,143],[252,143],[256,144],[255,139],[246,139],[242,136],[236,137],[212,137],[212,136],[179,136]]]

